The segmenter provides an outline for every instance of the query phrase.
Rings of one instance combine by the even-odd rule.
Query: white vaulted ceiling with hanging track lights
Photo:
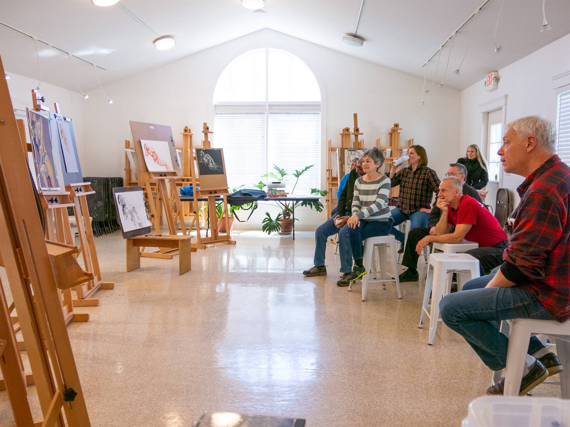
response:
[[[473,20],[458,35],[446,85],[464,89],[570,33],[569,0],[546,0],[552,26],[547,32],[539,32],[541,0],[504,0],[496,33],[502,48],[496,54],[492,36],[502,1],[491,0],[479,14],[459,76],[453,70],[461,61]],[[262,28],[423,77],[424,61],[482,0],[365,0],[358,35],[366,42],[363,47],[347,46],[341,39],[355,30],[360,3],[266,0],[267,13],[251,13],[240,0],[121,0],[158,34],[176,38],[176,47],[168,51],[156,50],[152,44],[156,36],[120,7],[97,7],[90,0],[0,0],[0,20],[105,68],[98,70],[103,85]],[[78,91],[67,56],[42,43],[38,49],[43,81]],[[442,53],[436,85],[448,52],[449,47]],[[570,46],[561,54],[570,55]],[[30,38],[0,26],[0,55],[5,69],[38,78]],[[91,65],[74,59],[74,66],[83,91],[97,87]],[[428,85],[434,71],[432,61]]]

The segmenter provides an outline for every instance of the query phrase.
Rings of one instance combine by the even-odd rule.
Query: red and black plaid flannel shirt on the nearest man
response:
[[[512,235],[501,272],[540,301],[552,318],[570,319],[570,167],[549,158],[517,188]]]

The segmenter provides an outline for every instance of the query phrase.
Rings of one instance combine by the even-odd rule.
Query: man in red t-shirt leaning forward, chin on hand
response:
[[[432,242],[462,243],[467,239],[479,245],[466,253],[479,260],[481,276],[503,264],[507,235],[491,212],[474,198],[463,195],[461,180],[455,176],[444,178],[437,196],[437,207],[442,212],[435,227],[437,235],[420,240],[416,251],[421,254],[422,249]],[[451,225],[455,227],[453,233],[449,232]]]

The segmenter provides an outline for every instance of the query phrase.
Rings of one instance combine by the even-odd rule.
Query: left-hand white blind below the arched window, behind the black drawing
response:
[[[265,113],[215,114],[215,147],[223,149],[227,184],[251,188],[266,171]]]

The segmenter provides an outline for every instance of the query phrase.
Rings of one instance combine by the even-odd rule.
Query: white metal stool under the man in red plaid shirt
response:
[[[556,338],[556,355],[564,367],[560,372],[560,388],[563,399],[570,399],[570,321],[541,321],[534,319],[512,319],[509,325],[507,373],[504,379],[504,396],[518,396],[523,377],[524,360],[528,341],[532,335],[548,334]],[[503,322],[504,325],[504,322]],[[502,328],[503,329],[503,328]],[[500,371],[499,377],[500,377]],[[495,374],[496,375],[496,374]],[[545,381],[546,382],[546,381]],[[552,383],[551,384],[557,384]]]

